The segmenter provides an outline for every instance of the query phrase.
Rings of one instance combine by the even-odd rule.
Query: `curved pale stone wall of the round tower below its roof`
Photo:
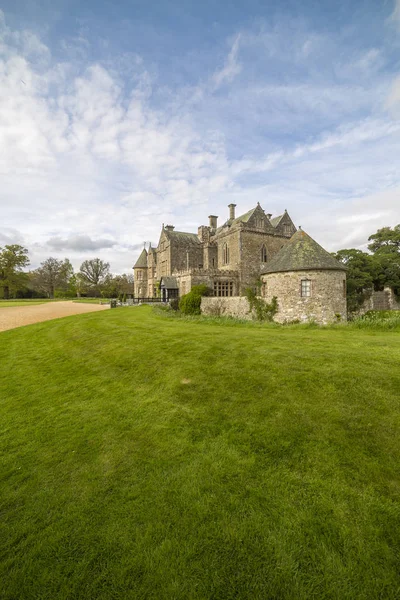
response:
[[[311,296],[301,297],[301,280],[311,281]],[[262,295],[278,299],[275,321],[316,321],[320,324],[346,321],[346,274],[343,271],[312,270],[268,273],[262,276]]]

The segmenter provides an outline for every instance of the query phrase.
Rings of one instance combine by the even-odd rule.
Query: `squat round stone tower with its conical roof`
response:
[[[266,265],[262,296],[278,299],[275,321],[346,321],[346,267],[299,229]]]

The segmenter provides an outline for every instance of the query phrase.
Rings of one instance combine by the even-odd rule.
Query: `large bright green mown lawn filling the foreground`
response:
[[[399,342],[149,307],[3,332],[1,598],[399,598]]]

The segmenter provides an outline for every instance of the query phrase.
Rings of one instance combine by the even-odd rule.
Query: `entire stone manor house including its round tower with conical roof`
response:
[[[222,225],[210,215],[197,234],[163,225],[158,246],[144,248],[133,267],[135,297],[168,301],[204,283],[213,297],[203,312],[244,316],[244,290],[261,279],[262,296],[278,297],[278,321],[346,318],[345,267],[297,231],[286,210],[272,218],[257,204],[237,217],[236,205],[228,208]]]

